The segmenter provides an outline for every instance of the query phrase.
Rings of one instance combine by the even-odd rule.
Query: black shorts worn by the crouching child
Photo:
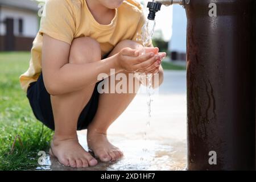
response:
[[[79,116],[77,130],[86,129],[96,114],[98,98],[100,96],[97,86],[100,82],[97,82],[93,90],[92,97]],[[39,76],[36,82],[32,82],[30,86],[28,86],[27,98],[30,101],[31,108],[36,119],[49,127],[49,129],[55,130],[51,99],[46,87],[44,86],[42,74]]]

